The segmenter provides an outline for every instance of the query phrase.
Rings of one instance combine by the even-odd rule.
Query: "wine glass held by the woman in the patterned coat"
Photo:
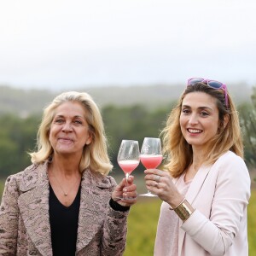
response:
[[[127,185],[131,172],[134,171],[140,163],[140,149],[138,142],[134,140],[122,140],[117,160],[120,168],[125,172]],[[127,199],[129,198],[125,198],[125,200]]]

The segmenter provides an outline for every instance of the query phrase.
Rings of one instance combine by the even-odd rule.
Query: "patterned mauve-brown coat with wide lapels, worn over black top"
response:
[[[76,255],[122,255],[128,212],[109,207],[113,177],[85,170]],[[0,255],[52,256],[47,162],[8,177],[0,207]]]

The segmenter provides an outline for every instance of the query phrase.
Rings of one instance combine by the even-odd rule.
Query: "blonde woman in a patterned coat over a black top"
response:
[[[5,184],[0,254],[122,255],[136,185],[108,176],[102,116],[88,94],[62,93],[44,109],[31,157]]]

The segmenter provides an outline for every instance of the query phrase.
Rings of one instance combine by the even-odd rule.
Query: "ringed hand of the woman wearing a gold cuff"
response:
[[[147,189],[154,195],[158,195],[162,201],[166,201],[172,208],[177,207],[183,201],[183,195],[178,192],[169,172],[148,169],[144,173]]]

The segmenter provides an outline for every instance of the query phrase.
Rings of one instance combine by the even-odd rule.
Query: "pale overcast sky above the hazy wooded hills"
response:
[[[0,0],[0,84],[256,84],[255,0]]]

